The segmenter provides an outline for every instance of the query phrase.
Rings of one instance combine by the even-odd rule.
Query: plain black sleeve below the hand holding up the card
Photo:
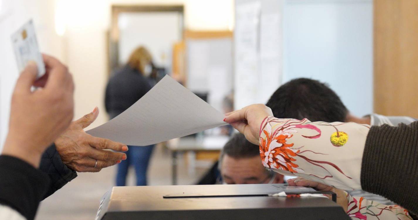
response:
[[[34,219],[49,187],[49,177],[23,160],[0,156],[0,203]]]

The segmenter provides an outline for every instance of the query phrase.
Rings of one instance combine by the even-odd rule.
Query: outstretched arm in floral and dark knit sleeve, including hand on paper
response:
[[[256,104],[225,118],[260,144],[265,166],[340,189],[362,188],[418,213],[418,122],[370,129],[272,118],[270,112]]]

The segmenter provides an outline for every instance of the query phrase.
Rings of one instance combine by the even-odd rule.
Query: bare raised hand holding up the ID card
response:
[[[46,74],[37,80],[34,62],[20,74],[10,107],[3,154],[38,167],[43,151],[69,126],[74,112],[74,84],[68,68],[43,55]],[[36,85],[34,91],[31,87]]]

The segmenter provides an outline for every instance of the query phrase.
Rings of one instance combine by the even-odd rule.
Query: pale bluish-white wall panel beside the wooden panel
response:
[[[287,0],[283,83],[327,82],[355,115],[371,113],[372,10],[372,0]]]

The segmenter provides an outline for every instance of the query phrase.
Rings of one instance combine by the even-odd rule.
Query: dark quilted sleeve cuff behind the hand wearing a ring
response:
[[[42,200],[77,177],[77,172],[62,162],[54,144],[43,153],[39,169],[48,174],[51,180],[51,185]]]

